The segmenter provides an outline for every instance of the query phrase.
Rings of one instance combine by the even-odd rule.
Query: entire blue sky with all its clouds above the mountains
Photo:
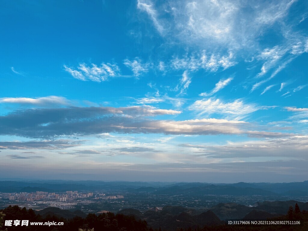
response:
[[[1,176],[307,180],[307,1],[0,1]]]

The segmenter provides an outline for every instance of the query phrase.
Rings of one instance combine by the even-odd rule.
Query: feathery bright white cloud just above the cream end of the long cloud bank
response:
[[[199,115],[217,113],[224,115],[226,118],[230,117],[238,120],[245,118],[248,114],[260,108],[254,104],[245,104],[241,99],[234,100],[233,102],[223,102],[220,99],[209,98],[197,100],[188,109],[198,112]]]

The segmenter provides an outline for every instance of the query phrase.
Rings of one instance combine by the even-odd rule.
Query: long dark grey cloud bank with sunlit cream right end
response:
[[[238,104],[242,105],[241,102],[236,102],[235,106]],[[231,106],[228,106],[228,108],[228,110],[232,110],[230,113],[235,110]],[[240,110],[240,108],[236,110]],[[236,110],[234,113],[237,113]],[[253,111],[255,109],[246,106],[247,110]],[[150,106],[18,110],[0,117],[0,134],[31,138],[93,135],[107,132],[175,135],[246,134],[253,137],[290,135],[282,132],[253,131],[248,129],[249,123],[238,120],[196,119],[176,121],[148,118],[148,116],[177,115],[179,113],[180,111],[157,109]]]

